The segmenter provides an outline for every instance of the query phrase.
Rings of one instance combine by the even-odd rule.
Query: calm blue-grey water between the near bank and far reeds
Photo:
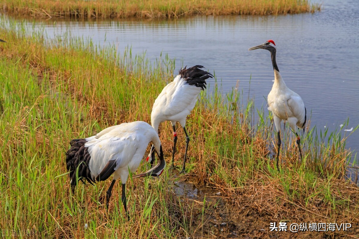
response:
[[[356,0],[324,1],[315,14],[280,16],[197,16],[178,20],[41,21],[48,36],[71,31],[118,51],[146,51],[150,59],[168,53],[184,65],[202,64],[215,71],[224,92],[239,83],[239,91],[266,105],[274,73],[268,51],[247,49],[273,39],[277,63],[287,86],[304,101],[311,126],[329,131],[349,118],[359,124],[359,4]],[[106,41],[105,41],[106,39]],[[251,80],[250,80],[251,79]],[[209,81],[211,82],[211,81]],[[246,97],[245,97],[246,98]],[[265,110],[266,111],[266,110]],[[344,132],[343,135],[349,134]],[[347,147],[358,152],[359,131]]]

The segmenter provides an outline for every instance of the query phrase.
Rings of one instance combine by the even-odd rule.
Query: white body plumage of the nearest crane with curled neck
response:
[[[113,179],[121,177],[122,183],[127,181],[129,169],[135,172],[139,167],[149,142],[154,144],[158,152],[161,144],[157,132],[143,121],[111,126],[85,140],[93,180],[109,161],[116,161]]]

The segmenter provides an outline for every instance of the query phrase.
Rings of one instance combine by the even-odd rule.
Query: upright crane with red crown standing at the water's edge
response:
[[[276,48],[273,40],[267,40],[265,43],[249,48],[248,51],[255,49],[266,49],[270,51],[272,65],[274,70],[274,83],[272,90],[269,92],[268,110],[272,111],[275,128],[278,133],[278,152],[277,152],[277,169],[278,169],[278,158],[280,151],[280,123],[282,120],[287,120],[290,128],[292,128],[295,135],[297,135],[297,144],[299,148],[300,159],[302,159],[302,152],[300,151],[300,138],[298,128],[304,129],[307,121],[307,109],[304,106],[302,98],[290,90],[286,85],[279,73],[277,63],[275,61]],[[298,127],[298,128],[297,128]],[[279,169],[278,169],[279,170]]]

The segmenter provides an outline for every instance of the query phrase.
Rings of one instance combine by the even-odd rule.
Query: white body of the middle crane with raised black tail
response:
[[[165,86],[155,100],[151,113],[151,124],[156,132],[163,121],[171,121],[172,125],[179,122],[185,127],[187,115],[195,107],[201,90],[195,85],[188,85],[181,75]]]

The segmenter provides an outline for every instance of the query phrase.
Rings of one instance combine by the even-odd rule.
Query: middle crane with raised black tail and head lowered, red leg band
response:
[[[174,163],[174,154],[176,153],[176,122],[179,122],[186,134],[186,150],[185,158],[183,160],[183,167],[181,172],[185,172],[185,165],[187,160],[187,149],[190,137],[186,131],[186,118],[195,107],[197,102],[197,96],[206,88],[206,80],[213,78],[213,75],[209,72],[201,70],[203,66],[196,65],[187,69],[187,67],[181,69],[178,75],[165,86],[162,92],[155,100],[152,113],[151,124],[152,127],[158,132],[159,124],[163,121],[171,121],[173,128],[173,153],[172,153],[172,167]],[[150,152],[153,152],[153,147]],[[154,155],[149,154],[147,160],[153,163]]]

